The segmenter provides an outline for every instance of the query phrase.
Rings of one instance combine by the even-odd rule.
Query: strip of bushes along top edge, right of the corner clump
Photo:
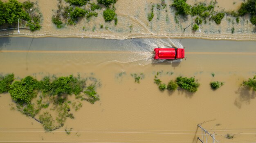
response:
[[[58,29],[65,27],[65,25],[75,25],[80,18],[84,17],[87,22],[90,22],[93,16],[98,17],[98,12],[105,5],[107,9],[103,11],[103,18],[106,22],[115,20],[115,25],[117,25],[114,5],[116,0],[97,0],[97,2],[96,4],[93,0],[58,0],[58,10],[52,16],[52,22]],[[64,7],[63,4],[67,6]],[[85,30],[85,26],[83,26],[83,30]],[[92,31],[94,30],[95,27]]]

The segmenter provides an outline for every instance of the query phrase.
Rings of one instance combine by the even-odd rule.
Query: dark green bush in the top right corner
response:
[[[247,0],[247,2],[243,2],[238,13],[240,15],[245,15],[247,13],[256,15],[256,0]]]

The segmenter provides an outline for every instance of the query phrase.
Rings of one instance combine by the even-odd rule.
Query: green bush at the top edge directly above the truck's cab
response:
[[[186,3],[186,0],[174,0],[171,5],[176,8],[177,14],[189,15],[191,14],[190,5]]]

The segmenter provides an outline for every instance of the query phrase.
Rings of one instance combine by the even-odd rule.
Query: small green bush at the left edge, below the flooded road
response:
[[[14,74],[8,74],[5,76],[0,76],[0,93],[8,92],[10,90],[10,85],[14,80]]]

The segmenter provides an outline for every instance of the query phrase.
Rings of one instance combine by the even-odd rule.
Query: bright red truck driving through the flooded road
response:
[[[184,48],[155,48],[154,59],[183,59]]]

